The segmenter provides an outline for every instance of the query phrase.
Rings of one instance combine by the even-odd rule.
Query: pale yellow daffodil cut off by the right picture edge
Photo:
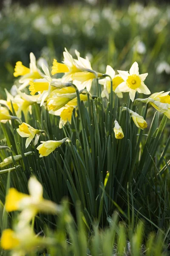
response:
[[[146,99],[136,99],[135,101],[147,103],[153,106],[157,111],[163,113],[170,119],[170,91],[161,91],[159,93],[153,93]]]

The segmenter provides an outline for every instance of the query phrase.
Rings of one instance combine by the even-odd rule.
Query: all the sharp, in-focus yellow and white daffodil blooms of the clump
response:
[[[28,123],[22,122],[20,120],[22,112],[25,119],[27,119],[28,112],[31,113],[31,106],[40,104],[50,114],[60,116],[59,128],[62,128],[67,122],[71,123],[73,113],[77,117],[78,102],[87,101],[88,96],[93,99],[90,91],[94,79],[97,79],[99,84],[103,86],[101,98],[106,98],[110,101],[111,94],[115,93],[115,97],[117,96],[122,100],[123,93],[129,93],[129,99],[133,102],[133,105],[136,101],[150,104],[157,111],[170,118],[169,92],[154,93],[146,99],[135,100],[136,92],[150,94],[150,90],[144,84],[148,74],[139,74],[137,62],[133,63],[129,72],[117,70],[116,74],[115,70],[108,65],[106,73],[102,74],[93,70],[88,57],[80,57],[80,53],[77,50],[75,50],[75,55],[77,58],[73,58],[68,50],[65,49],[63,52],[64,60],[59,63],[54,59],[51,72],[45,61],[42,61],[41,68],[37,67],[37,61],[33,53],[30,54],[29,68],[25,67],[21,61],[16,63],[14,77],[19,77],[20,86],[12,87],[13,95],[6,90],[7,99],[0,100],[0,121],[7,122],[11,119],[18,119],[20,125],[17,132],[21,137],[26,137],[26,148],[28,148],[32,140],[34,140],[34,145],[37,145],[41,134],[45,133],[45,131],[38,130]],[[58,74],[60,78],[56,78]],[[132,111],[132,109],[122,107],[122,111],[125,110],[129,112],[130,117],[138,128],[142,130],[147,128],[147,122],[143,116]],[[124,134],[117,120],[114,121],[113,126],[115,138],[122,139]],[[37,147],[40,157],[48,156],[65,142],[70,142],[70,140],[64,138],[59,141],[41,141],[42,144]]]

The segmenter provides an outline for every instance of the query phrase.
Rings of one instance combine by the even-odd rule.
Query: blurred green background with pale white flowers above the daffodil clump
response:
[[[161,2],[161,3],[160,3]],[[66,47],[87,55],[94,70],[129,70],[137,61],[153,92],[170,90],[170,1],[0,1],[0,97],[14,84],[16,61],[63,60]]]

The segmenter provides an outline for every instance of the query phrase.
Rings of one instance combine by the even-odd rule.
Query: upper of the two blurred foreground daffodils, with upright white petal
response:
[[[43,198],[42,185],[35,177],[29,179],[28,191],[30,195],[10,188],[6,195],[6,211],[22,211],[19,216],[20,227],[22,226],[21,223],[29,223],[38,212],[56,214],[61,210],[57,204]]]

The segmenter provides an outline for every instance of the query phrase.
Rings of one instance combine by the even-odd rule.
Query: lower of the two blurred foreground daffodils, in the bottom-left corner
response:
[[[25,226],[23,229],[18,227],[16,230],[3,230],[0,246],[4,250],[11,250],[13,256],[23,256],[26,253],[35,250],[37,247],[44,247],[48,244],[53,244],[51,238],[37,236],[30,226]]]

